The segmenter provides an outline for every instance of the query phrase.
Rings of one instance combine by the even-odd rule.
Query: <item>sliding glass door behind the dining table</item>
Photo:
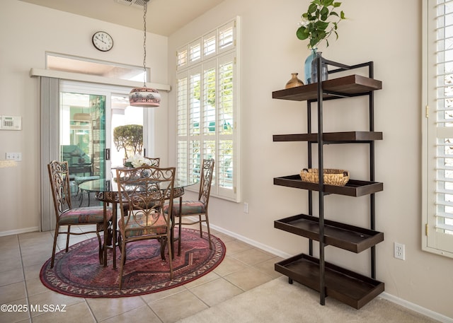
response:
[[[62,82],[58,140],[60,160],[69,163],[72,194],[78,198],[73,197],[73,204],[77,205],[76,201],[80,201],[81,206],[97,203],[94,196],[80,192],[78,184],[86,180],[109,180],[111,168],[122,165],[125,151],[115,144],[115,127],[136,124],[143,129],[143,110],[129,106],[129,90]]]

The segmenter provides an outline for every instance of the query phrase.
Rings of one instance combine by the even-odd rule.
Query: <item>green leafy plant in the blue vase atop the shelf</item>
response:
[[[313,0],[309,5],[309,10],[302,13],[302,21],[300,27],[297,29],[297,38],[299,40],[309,39],[307,47],[315,49],[319,43],[326,40],[326,47],[328,47],[327,38],[334,33],[338,39],[338,23],[345,19],[343,11],[336,12],[336,8],[341,5],[341,2],[334,2],[333,0]]]

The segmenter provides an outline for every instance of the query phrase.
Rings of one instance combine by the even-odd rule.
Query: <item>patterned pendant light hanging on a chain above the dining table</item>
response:
[[[161,95],[154,88],[147,88],[147,7],[148,1],[144,0],[143,6],[143,88],[133,88],[129,93],[129,103],[132,107],[159,107]]]

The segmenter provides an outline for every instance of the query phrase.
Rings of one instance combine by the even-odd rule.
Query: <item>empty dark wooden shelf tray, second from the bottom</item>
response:
[[[319,241],[319,218],[299,214],[274,221],[274,228]],[[362,252],[384,241],[384,233],[324,220],[324,242],[351,252]]]

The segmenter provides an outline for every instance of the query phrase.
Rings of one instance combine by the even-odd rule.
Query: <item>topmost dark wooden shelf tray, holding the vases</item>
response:
[[[353,74],[323,81],[323,90],[338,93],[338,95],[324,93],[323,98],[328,99],[340,98],[342,96],[365,95],[370,91],[380,89],[382,89],[381,81]],[[316,100],[318,97],[318,83],[287,88],[285,90],[277,90],[272,93],[272,97],[274,99],[294,101]]]

